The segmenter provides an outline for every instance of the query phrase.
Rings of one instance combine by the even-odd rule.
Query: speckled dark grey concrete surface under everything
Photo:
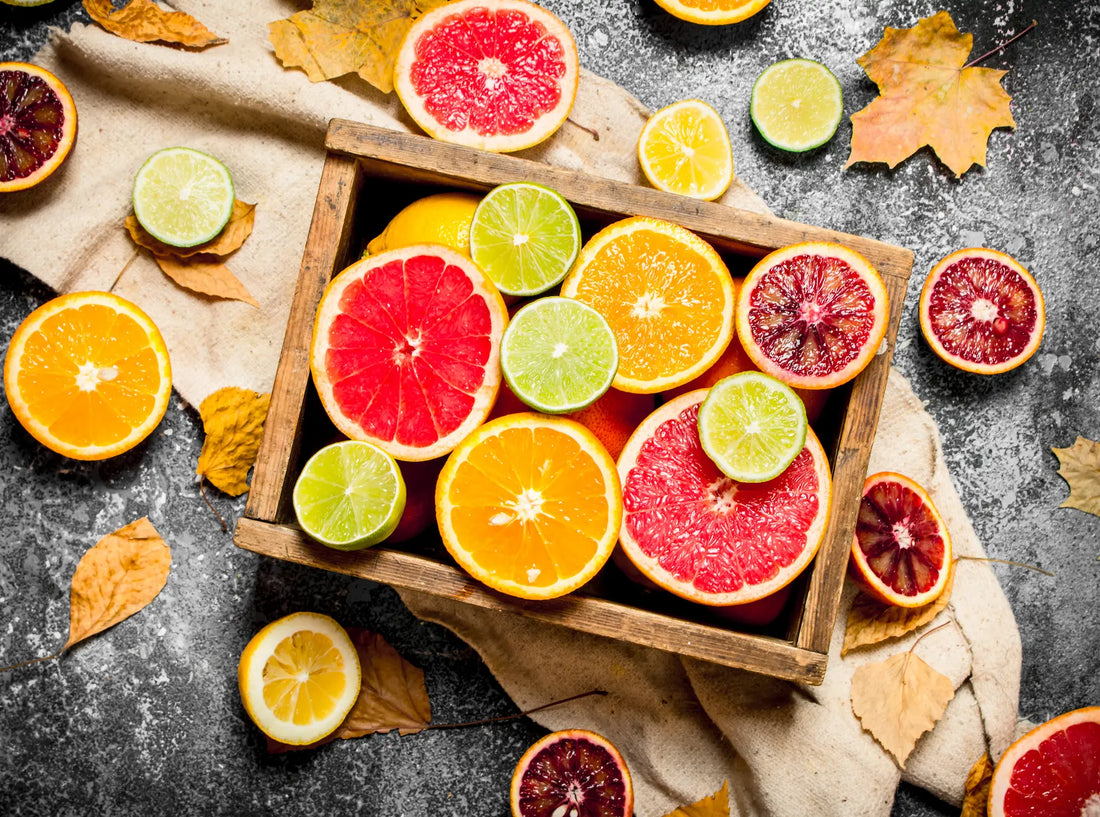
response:
[[[651,107],[700,97],[723,114],[738,174],[781,216],[912,249],[916,267],[895,363],[939,422],[963,500],[991,556],[1056,573],[996,567],[1024,644],[1021,714],[1043,720],[1100,704],[1100,519],[1058,510],[1067,488],[1052,445],[1100,438],[1100,3],[1072,0],[774,0],[736,26],[681,23],[650,0],[543,0],[573,30],[582,64]],[[843,170],[850,125],[791,158],[752,131],[754,78],[792,56],[839,77],[846,113],[875,97],[856,57],[886,25],[947,8],[985,51],[1040,26],[983,65],[1009,68],[1018,130],[990,140],[989,169],[961,180],[928,151],[895,170]],[[26,59],[46,25],[82,19],[79,3],[0,12],[0,57]],[[979,52],[980,53],[980,52]],[[920,336],[924,275],[950,251],[1015,255],[1047,301],[1034,360],[980,378],[936,358]],[[50,297],[0,262],[0,338]],[[503,815],[507,781],[541,733],[527,720],[413,738],[375,736],[271,758],[235,688],[255,629],[297,609],[382,632],[427,672],[437,721],[515,710],[476,655],[413,618],[388,588],[237,550],[193,479],[197,415],[174,401],[160,431],[101,465],[57,457],[0,405],[0,664],[65,639],[68,578],[99,537],[148,515],[173,548],[167,587],[141,615],[62,662],[0,674],[0,814]],[[215,498],[230,521],[242,501]],[[953,809],[903,786],[899,817]]]

